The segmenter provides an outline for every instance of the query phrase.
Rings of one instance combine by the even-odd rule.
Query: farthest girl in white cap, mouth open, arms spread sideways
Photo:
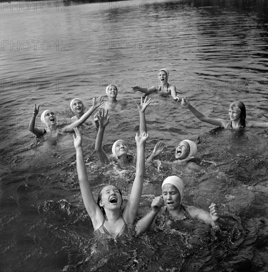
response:
[[[158,72],[158,80],[160,85],[159,86],[152,86],[151,88],[141,88],[139,86],[131,87],[133,91],[141,91],[146,95],[157,91],[159,94],[163,96],[167,96],[171,94],[174,100],[179,101],[180,96],[176,92],[176,87],[174,85],[169,84],[168,81],[169,71],[166,68],[162,68]]]

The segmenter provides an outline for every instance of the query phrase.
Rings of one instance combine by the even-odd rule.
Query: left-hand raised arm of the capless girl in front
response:
[[[84,153],[82,149],[82,136],[77,128],[74,128],[74,131],[76,133],[76,136],[74,135],[74,145],[77,151],[77,175],[80,190],[86,211],[92,220],[93,227],[96,229],[97,227],[99,227],[100,222],[102,222],[104,216],[93,197],[91,187],[87,180],[87,172],[84,163]]]

